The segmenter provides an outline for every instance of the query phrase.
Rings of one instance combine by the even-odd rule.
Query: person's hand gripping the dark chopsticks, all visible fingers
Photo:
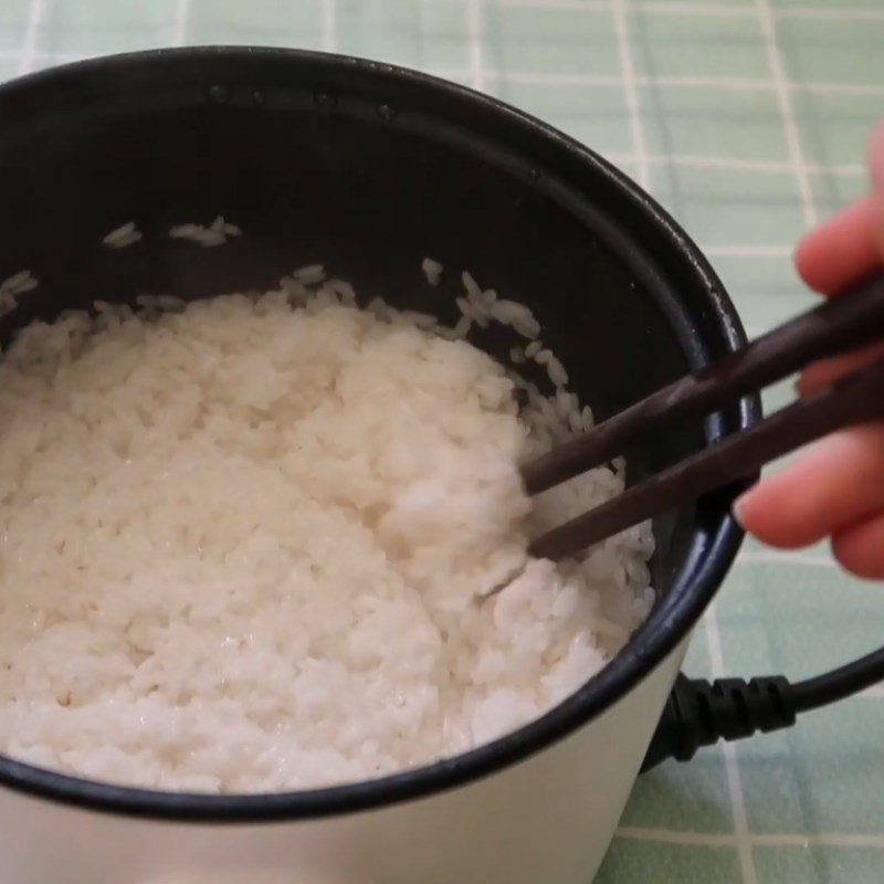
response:
[[[884,125],[872,138],[871,197],[806,236],[796,265],[804,282],[836,295],[884,267]],[[809,367],[807,396],[884,357],[884,343]],[[831,538],[835,558],[867,579],[884,578],[884,423],[854,427],[808,446],[783,472],[750,488],[734,511],[759,540],[794,549]]]

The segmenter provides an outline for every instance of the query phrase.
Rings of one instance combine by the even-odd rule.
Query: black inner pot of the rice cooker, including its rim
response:
[[[84,62],[0,87],[0,278],[40,285],[0,320],[133,301],[275,287],[320,262],[362,297],[456,318],[460,271],[530,306],[575,391],[609,415],[744,341],[696,246],[602,159],[467,90],[355,59],[207,48]],[[173,224],[215,215],[244,234],[206,249]],[[135,221],[144,240],[102,238]],[[430,287],[424,256],[445,274]],[[503,356],[501,339],[478,339]],[[507,341],[508,347],[509,341]],[[746,427],[746,400],[645,440],[635,481]],[[375,782],[277,796],[171,796],[0,759],[0,782],[125,813],[320,815],[463,782],[590,719],[691,628],[736,554],[733,493],[659,519],[657,604],[618,659],[539,722],[491,746]]]

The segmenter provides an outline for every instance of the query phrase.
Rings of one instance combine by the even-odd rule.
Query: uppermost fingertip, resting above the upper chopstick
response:
[[[798,244],[794,263],[814,291],[836,294],[884,261],[884,196],[854,202]]]

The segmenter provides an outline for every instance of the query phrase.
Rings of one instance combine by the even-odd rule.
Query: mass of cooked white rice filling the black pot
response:
[[[622,488],[621,463],[524,493],[591,413],[522,379],[519,407],[491,357],[306,290],[320,270],[7,351],[3,753],[173,790],[364,780],[538,717],[646,614],[646,527],[526,555]]]

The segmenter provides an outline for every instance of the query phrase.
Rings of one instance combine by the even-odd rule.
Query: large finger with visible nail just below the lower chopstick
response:
[[[884,514],[884,425],[855,427],[807,449],[740,497],[735,515],[759,540],[794,549]]]

